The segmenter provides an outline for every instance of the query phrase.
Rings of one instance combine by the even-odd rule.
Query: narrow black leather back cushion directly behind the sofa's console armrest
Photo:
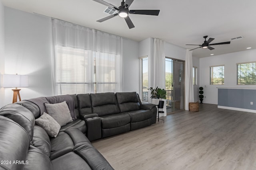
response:
[[[90,94],[78,94],[77,99],[80,114],[92,113]]]

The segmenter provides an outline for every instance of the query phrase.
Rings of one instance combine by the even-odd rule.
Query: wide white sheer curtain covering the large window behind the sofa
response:
[[[52,19],[54,95],[120,91],[122,38]]]

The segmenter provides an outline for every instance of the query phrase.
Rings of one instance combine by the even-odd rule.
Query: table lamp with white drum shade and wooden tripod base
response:
[[[12,103],[17,102],[17,98],[20,99],[20,90],[18,87],[28,87],[28,75],[18,74],[4,74],[3,75],[3,87],[15,87],[12,89],[13,98]]]

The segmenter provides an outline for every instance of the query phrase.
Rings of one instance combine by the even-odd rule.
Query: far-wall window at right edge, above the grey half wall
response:
[[[256,84],[256,62],[237,64],[237,84],[255,85]]]

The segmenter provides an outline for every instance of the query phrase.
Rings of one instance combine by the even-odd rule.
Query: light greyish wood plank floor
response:
[[[92,144],[115,170],[256,170],[256,114],[199,106]]]

